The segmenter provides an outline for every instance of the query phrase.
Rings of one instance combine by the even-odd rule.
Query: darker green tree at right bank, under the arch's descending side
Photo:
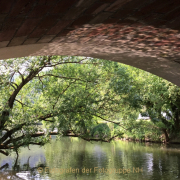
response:
[[[180,88],[148,72],[127,67],[129,75],[126,103],[136,109],[142,116],[149,116],[153,125],[166,136],[166,141],[180,133]],[[124,92],[123,84],[115,88],[118,94]],[[126,85],[127,85],[126,83]],[[153,131],[153,130],[152,130]],[[142,130],[134,130],[134,133]]]

